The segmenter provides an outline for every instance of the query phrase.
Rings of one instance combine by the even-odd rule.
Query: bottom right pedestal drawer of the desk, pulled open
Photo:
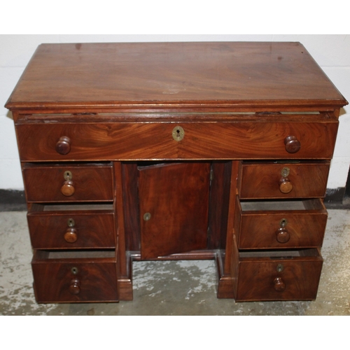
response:
[[[314,300],[322,264],[317,249],[239,253],[236,300]]]

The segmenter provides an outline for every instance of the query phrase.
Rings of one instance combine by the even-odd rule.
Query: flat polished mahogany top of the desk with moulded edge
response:
[[[64,43],[38,46],[6,107],[345,104],[300,43]]]

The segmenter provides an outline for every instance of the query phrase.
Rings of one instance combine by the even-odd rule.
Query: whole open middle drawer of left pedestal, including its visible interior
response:
[[[27,221],[34,249],[116,247],[113,204],[32,204]]]

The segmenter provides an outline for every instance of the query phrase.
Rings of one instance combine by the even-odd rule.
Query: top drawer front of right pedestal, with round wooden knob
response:
[[[324,197],[329,162],[241,165],[241,199]]]

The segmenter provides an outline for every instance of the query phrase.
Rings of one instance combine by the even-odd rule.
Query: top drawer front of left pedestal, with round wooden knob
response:
[[[113,200],[111,166],[24,167],[27,202]]]

